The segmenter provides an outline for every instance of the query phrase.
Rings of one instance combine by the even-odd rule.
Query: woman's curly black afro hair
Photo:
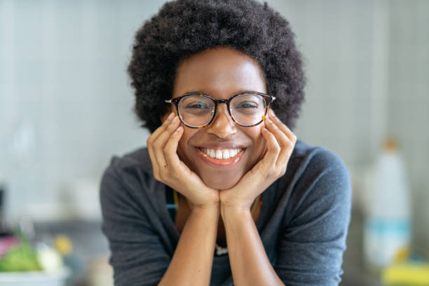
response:
[[[253,0],[178,0],[163,5],[137,31],[128,66],[135,89],[135,114],[154,132],[169,100],[180,62],[215,47],[239,50],[264,71],[271,108],[293,129],[304,101],[301,53],[289,22]]]

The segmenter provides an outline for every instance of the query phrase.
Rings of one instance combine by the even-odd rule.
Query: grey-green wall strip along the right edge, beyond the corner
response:
[[[429,2],[390,3],[388,132],[402,143],[414,239],[429,256]]]

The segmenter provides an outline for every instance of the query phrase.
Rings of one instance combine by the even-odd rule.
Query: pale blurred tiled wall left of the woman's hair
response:
[[[112,154],[146,144],[125,70],[135,31],[161,5],[0,1],[0,174],[10,217],[66,215],[60,201],[73,199],[76,181],[97,184]]]

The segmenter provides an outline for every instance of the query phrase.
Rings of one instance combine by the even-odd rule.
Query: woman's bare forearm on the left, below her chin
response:
[[[219,205],[193,207],[159,285],[209,285]]]

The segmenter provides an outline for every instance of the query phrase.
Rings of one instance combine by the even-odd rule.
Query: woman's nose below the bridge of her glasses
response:
[[[212,123],[207,126],[207,132],[222,139],[236,134],[236,123],[229,116],[226,104],[219,104],[217,106],[216,116],[214,116]]]

